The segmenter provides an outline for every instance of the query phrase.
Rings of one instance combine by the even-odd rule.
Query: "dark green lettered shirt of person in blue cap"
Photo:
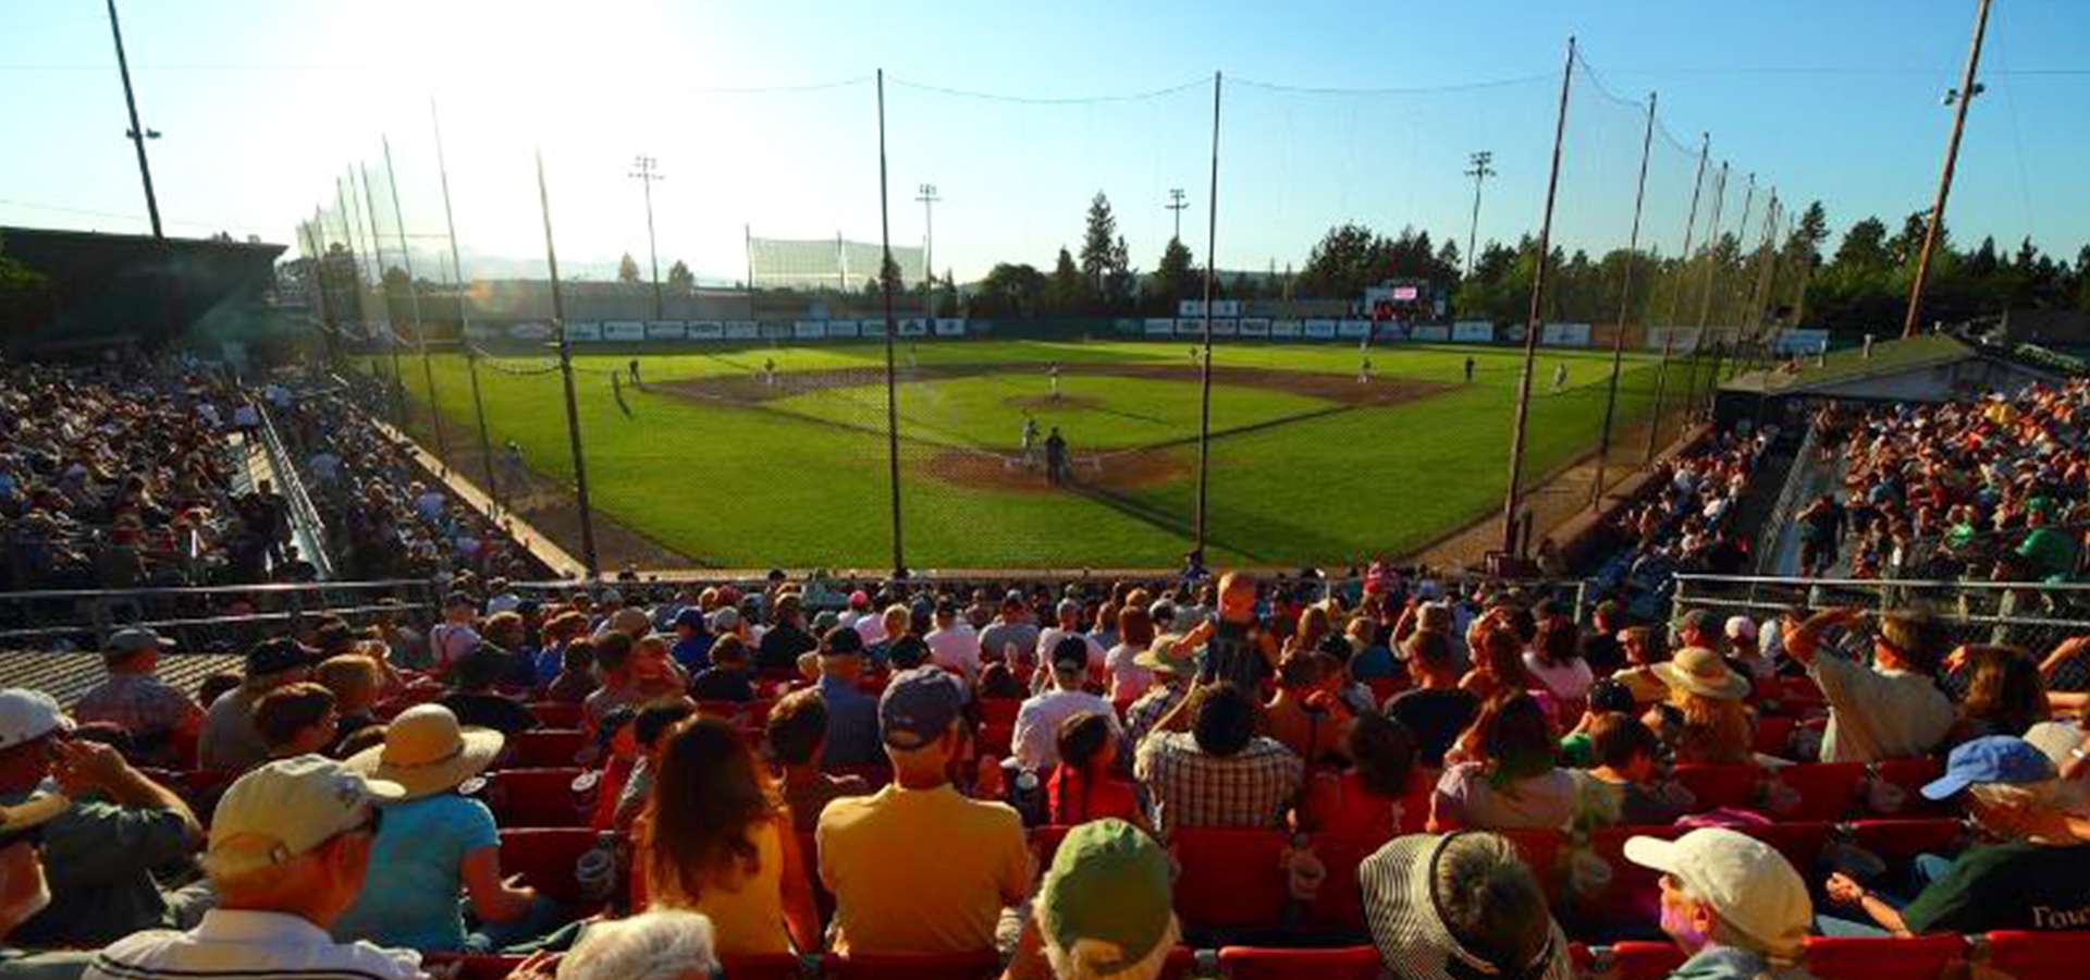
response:
[[[1971,846],[1902,909],[1908,932],[2086,930],[2090,846]]]

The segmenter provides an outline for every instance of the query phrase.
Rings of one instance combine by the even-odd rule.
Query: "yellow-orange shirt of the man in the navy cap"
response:
[[[815,840],[819,880],[834,892],[836,951],[995,949],[1001,909],[1030,892],[1022,817],[949,784],[838,798],[821,811]]]

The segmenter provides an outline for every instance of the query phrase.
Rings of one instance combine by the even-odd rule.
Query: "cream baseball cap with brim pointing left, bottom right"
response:
[[[1626,861],[1682,882],[1712,905],[1760,953],[1791,957],[1814,926],[1814,901],[1785,855],[1726,827],[1699,827],[1676,840],[1628,838]]]

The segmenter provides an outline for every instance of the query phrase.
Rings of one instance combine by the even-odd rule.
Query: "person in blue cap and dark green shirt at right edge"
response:
[[[1963,790],[1975,823],[1996,844],[1971,846],[1952,861],[1919,857],[1925,886],[1906,905],[1831,876],[1829,901],[1860,909],[1875,926],[1820,917],[1825,934],[2090,928],[2090,846],[2069,834],[2052,761],[2021,738],[1977,738],[1952,750],[1946,775],[1923,796],[1944,800]]]

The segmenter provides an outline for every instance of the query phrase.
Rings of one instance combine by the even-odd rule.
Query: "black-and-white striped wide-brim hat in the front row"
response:
[[[1444,844],[1455,836],[1409,834],[1394,838],[1356,867],[1365,924],[1371,928],[1371,942],[1379,949],[1379,963],[1390,976],[1455,980],[1494,974],[1492,965],[1459,944],[1438,913],[1436,865]],[[1574,976],[1568,936],[1557,921],[1551,921],[1549,928],[1553,936],[1547,965],[1528,976],[1532,980],[1568,980]],[[1455,959],[1461,961],[1459,970],[1450,967]]]

